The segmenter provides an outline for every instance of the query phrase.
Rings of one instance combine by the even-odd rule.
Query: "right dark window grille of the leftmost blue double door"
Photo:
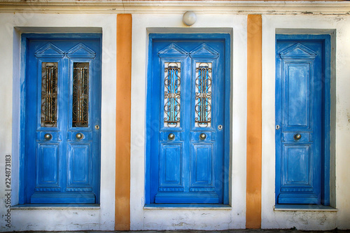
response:
[[[89,125],[89,63],[73,63],[72,127]]]

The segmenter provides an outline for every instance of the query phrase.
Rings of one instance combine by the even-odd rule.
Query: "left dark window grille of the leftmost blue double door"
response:
[[[57,127],[57,62],[41,63],[41,127]]]

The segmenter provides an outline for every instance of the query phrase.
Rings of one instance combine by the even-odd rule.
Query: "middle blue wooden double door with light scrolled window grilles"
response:
[[[149,202],[227,204],[225,39],[151,38]]]

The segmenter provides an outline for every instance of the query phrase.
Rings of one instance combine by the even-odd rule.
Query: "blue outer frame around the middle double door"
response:
[[[201,39],[221,39],[225,41],[225,103],[223,104],[224,110],[224,124],[225,124],[225,132],[224,132],[224,145],[225,148],[223,150],[223,169],[224,169],[224,177],[223,177],[223,204],[229,204],[229,187],[230,187],[230,117],[231,117],[231,35],[228,33],[195,33],[195,34],[166,34],[166,33],[158,33],[158,34],[148,34],[148,65],[147,65],[147,78],[146,78],[146,115],[145,115],[145,139],[146,139],[146,159],[145,159],[145,204],[151,204],[151,128],[152,122],[151,120],[151,104],[152,104],[152,50],[153,50],[153,40],[201,40]],[[169,204],[162,204],[169,205]],[[192,205],[192,204],[191,204]],[[212,205],[212,204],[209,204]]]

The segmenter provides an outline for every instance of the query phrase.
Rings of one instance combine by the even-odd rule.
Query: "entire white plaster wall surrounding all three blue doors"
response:
[[[145,8],[147,10],[147,8]],[[192,7],[197,10],[196,7]],[[200,8],[198,8],[200,9]],[[278,10],[280,10],[279,8]],[[132,14],[131,113],[131,230],[225,230],[246,224],[246,14],[197,11],[197,22],[187,27],[182,13]],[[222,9],[221,9],[222,10]],[[181,10],[179,10],[181,11]],[[12,204],[18,203],[20,31],[87,32],[102,29],[102,181],[99,208],[12,209],[6,227],[5,178],[0,176],[0,231],[113,230],[115,194],[116,13],[112,14],[0,14],[0,169],[12,156]],[[15,30],[14,27],[19,27]],[[45,27],[45,29],[41,28]],[[69,29],[67,27],[78,27]],[[332,70],[331,203],[337,211],[274,211],[274,73],[276,31],[332,33],[335,42]],[[296,30],[294,30],[296,29]],[[300,30],[303,29],[303,30]],[[232,35],[230,204],[228,209],[144,208],[145,105],[150,32],[228,32]],[[262,228],[301,230],[350,229],[350,16],[262,15]]]

